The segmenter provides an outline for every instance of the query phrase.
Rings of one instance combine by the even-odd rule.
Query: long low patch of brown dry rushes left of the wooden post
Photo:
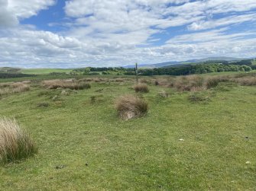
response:
[[[91,88],[91,85],[83,81],[75,80],[47,80],[42,81],[44,87],[50,89],[70,88],[72,90],[83,90]]]

